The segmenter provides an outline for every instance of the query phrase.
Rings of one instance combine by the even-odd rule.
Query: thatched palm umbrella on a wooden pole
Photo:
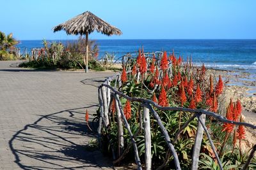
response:
[[[121,35],[122,32],[120,29],[108,24],[104,20],[100,19],[90,11],[86,11],[76,17],[63,22],[60,25],[52,28],[54,32],[60,31],[61,29],[65,30],[67,34],[74,35],[86,35],[86,57],[84,57],[84,64],[86,65],[86,72],[88,72],[88,34],[93,31],[101,32],[102,34],[106,34],[107,36],[111,36],[113,34]]]

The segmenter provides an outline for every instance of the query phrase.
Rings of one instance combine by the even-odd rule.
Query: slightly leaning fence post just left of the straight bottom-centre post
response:
[[[123,154],[124,151],[124,129],[123,129],[123,122],[122,122],[122,116],[120,113],[120,108],[118,107],[118,101],[116,101],[115,97],[113,97],[113,100],[115,100],[116,104],[116,118],[117,118],[117,127],[118,127],[118,157],[120,157]]]

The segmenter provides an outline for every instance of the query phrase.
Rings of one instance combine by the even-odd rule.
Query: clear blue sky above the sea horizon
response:
[[[91,11],[123,32],[90,39],[256,39],[255,0],[0,0],[0,31],[25,39],[76,39],[52,27]]]

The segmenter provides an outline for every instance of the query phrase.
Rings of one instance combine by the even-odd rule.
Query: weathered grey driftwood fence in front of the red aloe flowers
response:
[[[161,55],[161,53],[159,53]],[[130,56],[131,57],[131,56]],[[123,63],[129,63],[129,60],[124,60]],[[131,73],[131,68],[128,69],[127,73]],[[129,152],[129,149],[131,146],[133,146],[134,149],[134,157],[136,160],[136,164],[138,166],[138,169],[142,169],[141,161],[139,157],[138,148],[136,145],[136,136],[138,134],[138,131],[135,134],[132,134],[131,127],[125,118],[124,111],[122,109],[122,104],[120,102],[120,97],[124,97],[125,99],[131,101],[131,102],[137,102],[140,103],[141,106],[143,106],[143,114],[140,115],[140,130],[144,131],[145,135],[145,169],[152,169],[151,165],[151,136],[150,136],[150,114],[153,115],[153,117],[156,119],[157,124],[161,128],[161,131],[164,136],[164,140],[166,141],[166,144],[168,145],[168,151],[173,156],[175,167],[176,169],[180,169],[180,161],[178,159],[177,152],[175,151],[175,148],[173,144],[177,141],[179,134],[189,125],[189,123],[194,119],[198,118],[198,125],[197,125],[197,131],[195,136],[195,145],[193,148],[193,157],[192,157],[192,165],[191,169],[198,169],[198,162],[199,162],[199,156],[200,156],[200,148],[202,144],[202,138],[203,134],[207,135],[207,138],[209,139],[209,142],[211,144],[211,148],[216,156],[216,160],[218,162],[218,166],[220,166],[220,169],[223,169],[221,165],[220,158],[218,156],[218,153],[216,152],[216,148],[214,146],[214,143],[212,142],[211,135],[209,131],[207,130],[207,127],[205,126],[205,117],[213,117],[217,121],[221,123],[230,123],[234,125],[244,125],[246,127],[250,127],[252,129],[256,129],[255,125],[247,124],[244,122],[234,122],[227,120],[227,118],[222,117],[221,115],[217,115],[216,113],[213,113],[211,111],[206,111],[202,109],[189,109],[189,108],[181,108],[181,107],[162,107],[159,106],[157,103],[154,103],[151,100],[143,99],[143,98],[137,98],[137,97],[129,97],[123,94],[122,92],[118,91],[117,87],[120,87],[122,85],[120,81],[120,73],[115,74],[114,76],[111,76],[109,78],[106,78],[104,83],[99,86],[98,92],[99,92],[99,104],[100,104],[100,118],[99,118],[99,127],[98,127],[98,135],[99,135],[99,145],[100,144],[100,138],[102,134],[102,128],[106,129],[106,131],[109,131],[109,110],[110,110],[110,103],[112,100],[115,100],[116,104],[116,121],[118,124],[118,153],[115,153],[113,148],[111,148],[113,152],[113,159],[114,163],[119,162],[120,160],[124,159],[125,154]],[[111,84],[113,86],[111,86]],[[157,114],[157,112],[154,110],[154,108],[157,108],[158,110],[170,110],[170,111],[186,111],[193,113],[193,116],[189,118],[189,120],[180,127],[179,131],[177,131],[177,134],[175,135],[175,139],[173,141],[170,140],[170,136],[168,135],[168,132],[166,131],[163,122],[161,121],[161,118]],[[129,132],[129,136],[131,138],[131,143],[127,146],[127,148],[124,148],[124,129],[126,128]],[[246,163],[244,164],[243,170],[247,169],[248,165],[250,164],[250,161],[253,158],[253,154],[256,151],[256,145],[253,146],[252,151],[248,157],[248,160],[246,160]],[[162,166],[159,167],[159,169],[163,168],[166,165],[166,161],[162,164]]]

